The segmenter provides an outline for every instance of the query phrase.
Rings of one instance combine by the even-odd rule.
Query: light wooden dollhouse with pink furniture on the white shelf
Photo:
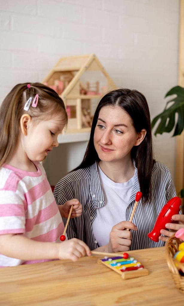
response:
[[[98,80],[99,73],[103,81]],[[100,97],[116,88],[95,54],[60,58],[42,83],[53,88],[65,103],[69,118],[66,133],[90,131],[92,106],[95,109]]]

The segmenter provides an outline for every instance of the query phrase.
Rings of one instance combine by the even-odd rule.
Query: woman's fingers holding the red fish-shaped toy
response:
[[[173,215],[172,220],[175,220],[177,223],[166,223],[166,228],[168,230],[161,230],[160,233],[165,235],[160,236],[159,240],[168,241],[169,237],[171,237],[177,230],[184,228],[184,215]]]

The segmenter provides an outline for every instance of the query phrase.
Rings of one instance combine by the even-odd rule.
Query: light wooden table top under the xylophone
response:
[[[97,256],[1,268],[0,305],[184,305],[184,294],[176,289],[167,266],[165,247],[128,253],[140,260],[148,275],[123,280],[97,264]]]

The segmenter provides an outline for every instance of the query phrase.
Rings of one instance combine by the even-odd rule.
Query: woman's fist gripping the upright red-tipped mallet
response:
[[[108,243],[108,252],[128,251],[132,243],[132,234],[130,230],[137,230],[137,226],[129,221],[122,221],[112,227],[110,241]]]

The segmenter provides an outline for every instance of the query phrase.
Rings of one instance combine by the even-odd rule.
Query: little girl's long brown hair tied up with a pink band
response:
[[[29,85],[30,84],[30,87]],[[38,94],[38,104],[24,110],[26,101]],[[41,83],[17,84],[6,96],[0,107],[0,167],[7,162],[16,148],[20,133],[20,119],[23,114],[32,118],[45,120],[62,112],[63,121],[67,123],[67,113],[63,100],[58,94]]]

